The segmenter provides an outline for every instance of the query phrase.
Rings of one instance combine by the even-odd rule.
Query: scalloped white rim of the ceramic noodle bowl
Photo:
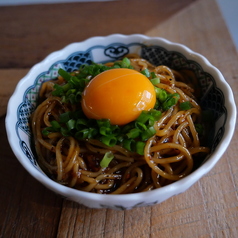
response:
[[[140,193],[134,193],[134,194],[118,194],[118,195],[113,195],[113,198],[115,200],[122,200],[122,201],[133,201],[135,198],[136,200],[140,198],[146,198],[150,194],[162,194],[164,192],[177,192],[176,194],[184,191],[182,190],[182,187],[187,187],[189,188],[192,186],[196,181],[198,181],[201,177],[203,177],[205,174],[207,174],[218,162],[218,160],[221,158],[221,156],[224,154],[226,151],[227,147],[229,146],[229,143],[232,139],[232,136],[234,134],[235,130],[235,123],[236,123],[236,106],[235,106],[235,100],[233,96],[233,92],[231,90],[231,87],[229,84],[226,82],[225,78],[223,77],[222,73],[215,67],[213,66],[208,59],[206,59],[204,56],[201,54],[194,52],[193,50],[189,49],[187,46],[180,44],[180,43],[175,43],[172,41],[169,41],[165,38],[162,37],[149,37],[146,35],[142,34],[132,34],[132,35],[123,35],[123,34],[111,34],[107,36],[95,36],[95,37],[90,37],[84,41],[81,42],[74,42],[71,43],[64,48],[54,51],[50,53],[48,56],[46,56],[42,61],[39,63],[35,64],[31,69],[28,71],[28,73],[18,82],[11,98],[9,99],[8,102],[8,107],[7,107],[7,114],[6,114],[6,119],[5,119],[5,126],[6,126],[6,132],[7,132],[7,137],[9,144],[11,146],[12,151],[14,152],[16,158],[18,161],[22,164],[22,166],[40,183],[44,184],[46,187],[49,189],[55,191],[56,193],[60,193],[61,195],[80,195],[80,197],[84,197],[86,199],[94,199],[94,200],[105,200],[105,199],[111,199],[111,196],[108,196],[109,194],[96,194],[96,193],[91,193],[91,192],[84,192],[80,190],[76,190],[74,188],[66,187],[64,185],[58,184],[57,182],[51,180],[49,177],[47,177],[45,174],[41,173],[37,169],[32,169],[33,166],[26,161],[26,158],[22,158],[21,154],[19,153],[19,148],[14,144],[14,137],[16,136],[15,131],[13,130],[13,126],[11,125],[11,118],[13,116],[16,116],[15,111],[13,111],[12,104],[14,102],[14,99],[17,97],[17,94],[23,84],[32,74],[34,75],[35,71],[40,71],[42,65],[47,65],[49,64],[50,61],[55,62],[56,59],[58,60],[64,52],[67,51],[72,51],[72,49],[75,48],[76,45],[86,45],[90,44],[93,45],[95,42],[102,42],[102,40],[105,39],[110,39],[110,40],[116,40],[120,42],[120,39],[127,40],[134,38],[135,40],[140,40],[142,42],[144,41],[154,41],[162,44],[163,47],[165,47],[167,50],[174,50],[182,53],[183,55],[186,55],[187,59],[193,59],[194,61],[199,61],[199,64],[202,64],[202,68],[205,72],[208,72],[209,74],[213,75],[214,78],[218,79],[216,80],[217,87],[222,88],[222,91],[225,95],[225,105],[229,109],[227,113],[227,123],[225,125],[225,132],[223,135],[223,138],[221,139],[219,145],[216,147],[214,150],[213,154],[210,156],[208,160],[206,160],[199,168],[197,168],[195,171],[193,171],[191,174],[186,176],[185,178],[176,181],[170,185],[166,185],[164,187],[161,187],[159,189],[154,189],[151,191],[146,191],[146,192],[140,192]],[[106,42],[106,41],[105,41]],[[97,43],[98,44],[98,43]],[[89,48],[89,46],[88,46]],[[41,71],[42,72],[42,71]],[[38,75],[38,74],[37,74]],[[229,122],[229,123],[228,123]],[[185,189],[186,190],[186,189]],[[175,193],[173,194],[175,195]]]

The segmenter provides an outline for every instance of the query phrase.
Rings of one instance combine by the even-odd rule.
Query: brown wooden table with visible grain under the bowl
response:
[[[0,237],[238,237],[237,133],[214,169],[188,191],[129,211],[64,200],[34,180],[11,152],[4,115],[19,79],[48,53],[111,33],[142,33],[187,45],[221,70],[237,96],[237,52],[215,0],[1,7]]]

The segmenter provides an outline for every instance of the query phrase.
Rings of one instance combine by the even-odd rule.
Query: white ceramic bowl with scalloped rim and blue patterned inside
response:
[[[201,106],[211,110],[214,124],[208,138],[211,153],[187,177],[165,187],[148,192],[125,195],[103,195],[82,192],[60,185],[47,177],[38,166],[31,148],[31,131],[28,120],[36,107],[42,82],[55,78],[59,68],[73,71],[81,64],[108,62],[137,53],[154,65],[167,65],[173,69],[189,69],[196,75],[203,97]],[[91,208],[131,209],[158,204],[186,191],[208,173],[227,149],[235,128],[236,106],[231,88],[220,71],[202,55],[186,46],[158,37],[114,34],[92,37],[72,43],[62,50],[51,53],[36,64],[20,80],[10,98],[6,116],[8,140],[16,158],[40,183],[63,197]]]

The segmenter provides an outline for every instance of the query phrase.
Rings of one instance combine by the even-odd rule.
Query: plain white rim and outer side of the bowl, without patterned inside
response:
[[[215,151],[213,152],[213,155],[210,156],[210,158],[206,160],[204,164],[201,165],[197,170],[195,170],[192,174],[188,175],[184,179],[177,181],[171,185],[165,186],[163,188],[155,189],[144,193],[125,195],[102,195],[82,192],[60,185],[48,178],[40,169],[35,169],[33,167],[32,163],[25,156],[19,146],[19,139],[15,130],[15,125],[17,124],[16,112],[19,106],[19,102],[22,102],[22,99],[25,94],[25,89],[29,88],[34,84],[36,76],[38,76],[42,72],[48,71],[50,66],[54,62],[66,59],[73,52],[79,51],[80,49],[88,49],[90,47],[93,47],[93,45],[110,45],[115,42],[125,44],[130,44],[131,42],[139,42],[146,45],[154,44],[162,46],[169,51],[177,51],[182,53],[187,59],[192,59],[196,61],[203,67],[204,71],[213,75],[213,77],[216,79],[216,84],[218,88],[222,89],[226,99],[225,106],[228,110],[228,114],[227,123],[225,126],[225,133],[220,142],[220,145],[218,145]],[[138,47],[134,47],[132,50],[135,53],[140,53],[140,49]],[[103,52],[100,51],[100,49],[95,51],[93,54],[95,62],[102,62],[108,60],[103,54]],[[212,66],[209,61],[205,59],[202,55],[191,51],[186,46],[172,43],[168,40],[159,37],[150,38],[138,34],[129,36],[114,34],[107,37],[89,38],[88,40],[80,43],[72,43],[63,48],[62,50],[50,54],[42,62],[32,67],[29,73],[18,83],[15,92],[9,100],[6,117],[6,130],[11,148],[19,162],[34,178],[44,184],[47,188],[53,190],[56,193],[61,194],[62,196],[68,199],[71,199],[75,202],[78,202],[91,208],[110,207],[113,209],[130,209],[133,207],[153,205],[163,202],[164,200],[176,194],[186,191],[202,176],[209,172],[227,149],[235,129],[235,121],[236,106],[231,88],[225,81],[220,71],[214,66]],[[28,135],[25,136],[27,137]],[[28,146],[30,147],[29,144]]]

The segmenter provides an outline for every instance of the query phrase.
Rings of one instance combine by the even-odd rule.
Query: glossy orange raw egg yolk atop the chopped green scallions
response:
[[[142,110],[154,107],[153,84],[132,69],[110,69],[95,76],[82,95],[82,109],[88,118],[109,119],[113,125],[134,121]]]

